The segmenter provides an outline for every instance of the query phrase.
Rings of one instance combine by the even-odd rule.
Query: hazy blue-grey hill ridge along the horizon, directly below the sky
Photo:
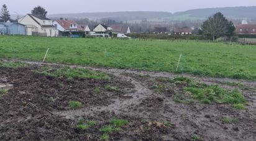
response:
[[[183,12],[89,12],[89,13],[73,13],[73,14],[52,14],[47,17],[51,19],[59,19],[60,17],[68,19],[83,19],[88,18],[91,20],[96,19],[114,19],[119,21],[125,20],[196,20],[206,19],[213,15],[215,12],[222,12],[224,16],[231,19],[256,19],[256,6],[249,7],[219,7],[219,8],[205,8],[193,9]]]

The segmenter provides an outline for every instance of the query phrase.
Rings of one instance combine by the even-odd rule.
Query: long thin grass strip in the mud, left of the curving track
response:
[[[53,76],[56,78],[91,78],[94,80],[109,80],[109,76],[99,71],[88,70],[85,68],[70,68],[68,66],[59,68],[54,71],[49,67],[42,67],[42,70],[35,70],[35,73],[40,73],[47,76]]]

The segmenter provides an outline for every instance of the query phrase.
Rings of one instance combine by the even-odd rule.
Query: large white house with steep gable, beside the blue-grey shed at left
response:
[[[21,17],[18,22],[25,25],[26,35],[58,36],[58,30],[54,28],[52,20],[47,17],[27,14]]]

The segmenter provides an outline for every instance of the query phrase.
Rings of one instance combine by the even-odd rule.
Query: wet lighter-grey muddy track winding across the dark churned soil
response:
[[[76,65],[60,65],[55,63],[40,63],[33,61],[22,61],[24,63],[29,63],[30,65],[53,65],[53,66],[70,66],[77,67]],[[117,76],[121,80],[130,81],[130,83],[135,85],[135,92],[130,92],[130,94],[124,95],[122,98],[113,99],[112,104],[108,106],[96,106],[96,107],[85,107],[83,109],[75,111],[60,111],[53,112],[58,116],[63,116],[67,119],[73,119],[79,116],[93,116],[99,112],[110,111],[115,112],[115,114],[124,113],[126,116],[137,116],[149,119],[158,120],[170,120],[175,126],[178,133],[183,133],[183,135],[190,135],[191,133],[197,132],[199,134],[204,134],[208,139],[211,140],[242,140],[243,136],[247,137],[246,140],[254,140],[256,137],[252,135],[252,131],[255,129],[251,125],[256,120],[256,94],[254,89],[256,89],[256,82],[240,80],[244,86],[251,88],[246,91],[243,90],[247,99],[249,100],[249,106],[247,110],[234,112],[228,110],[229,107],[219,106],[219,105],[185,105],[176,104],[176,102],[171,101],[168,98],[163,97],[163,102],[154,103],[156,106],[147,107],[141,106],[141,104],[147,103],[148,98],[159,97],[159,95],[154,94],[151,89],[148,88],[144,81],[137,80],[126,74],[135,75],[149,75],[153,78],[163,77],[163,78],[175,78],[178,76],[174,73],[162,73],[162,72],[151,72],[151,71],[136,71],[136,70],[121,70],[121,69],[107,69],[107,68],[93,68],[89,66],[80,66],[82,68],[104,71],[106,73],[111,73]],[[211,78],[208,76],[193,76],[188,74],[183,74],[190,78],[194,78],[206,84],[219,84],[226,89],[235,89],[235,86],[229,86],[226,81],[237,82],[237,80],[231,78]],[[149,102],[155,99],[151,99]],[[145,102],[146,101],[146,102]],[[158,107],[159,106],[159,107]],[[164,107],[167,106],[167,107]],[[138,109],[134,111],[134,109]],[[144,109],[145,108],[145,109]],[[154,110],[152,110],[154,109]],[[141,112],[143,111],[143,112]],[[146,113],[146,114],[145,114]],[[221,123],[221,118],[223,116],[238,117],[241,119],[239,131],[235,132],[233,128],[236,125],[226,125]],[[246,123],[249,121],[249,123]],[[247,125],[249,125],[247,129]],[[249,132],[249,134],[247,134]],[[163,139],[172,139],[172,135],[163,135]]]

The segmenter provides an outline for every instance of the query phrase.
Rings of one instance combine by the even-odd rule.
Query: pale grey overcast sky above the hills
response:
[[[114,11],[177,12],[205,7],[256,6],[256,0],[0,0],[11,14],[27,14],[43,6],[48,14]]]

